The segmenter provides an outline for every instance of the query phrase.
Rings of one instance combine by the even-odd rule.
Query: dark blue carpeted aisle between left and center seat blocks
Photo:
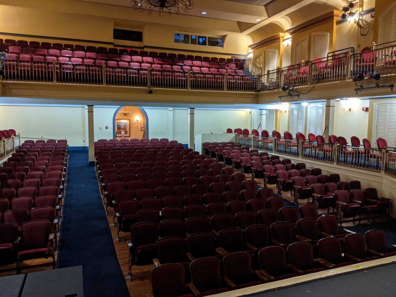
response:
[[[82,265],[84,296],[128,297],[88,151],[71,151],[58,268]]]

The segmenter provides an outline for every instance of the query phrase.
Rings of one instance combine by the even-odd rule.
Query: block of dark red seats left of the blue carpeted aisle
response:
[[[0,168],[0,265],[52,257],[67,169],[67,141],[23,143]]]

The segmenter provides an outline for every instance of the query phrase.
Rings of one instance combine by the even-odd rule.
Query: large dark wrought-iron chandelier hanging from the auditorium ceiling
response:
[[[152,13],[153,10],[158,9],[161,15],[161,11],[168,11],[169,15],[171,13],[180,14],[180,10],[188,13],[190,9],[194,8],[192,0],[131,0],[131,6],[134,10],[139,10],[143,12],[148,10],[148,15]]]

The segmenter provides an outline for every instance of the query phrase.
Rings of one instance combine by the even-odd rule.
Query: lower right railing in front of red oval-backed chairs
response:
[[[396,176],[396,151],[394,150],[367,149],[342,146],[338,143],[313,143],[239,134],[236,134],[236,143],[272,154],[295,156],[300,159]]]

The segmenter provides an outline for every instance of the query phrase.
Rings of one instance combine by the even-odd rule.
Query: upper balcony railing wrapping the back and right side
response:
[[[375,46],[360,53],[354,53],[354,50],[337,51],[321,60],[302,61],[268,70],[265,74],[261,73],[261,67],[251,59],[243,61],[243,65],[245,74],[228,74],[211,72],[211,69],[192,72],[2,59],[2,77],[4,80],[19,81],[253,92],[347,80],[356,74],[366,75],[373,70],[381,75],[394,75],[396,42]]]

